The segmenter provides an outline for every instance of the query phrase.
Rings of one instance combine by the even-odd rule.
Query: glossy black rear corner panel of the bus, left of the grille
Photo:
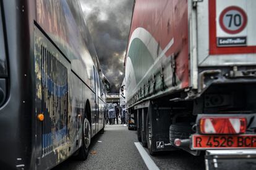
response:
[[[0,164],[14,169],[19,164],[30,168],[35,152],[35,67],[33,59],[32,1],[1,1],[8,74],[7,99],[0,108]],[[19,29],[17,29],[19,28]],[[2,38],[2,37],[1,37]]]

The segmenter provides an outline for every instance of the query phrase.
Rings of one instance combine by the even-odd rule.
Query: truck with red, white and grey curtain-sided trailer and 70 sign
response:
[[[126,108],[151,155],[185,150],[205,154],[207,169],[253,168],[255,7],[254,0],[134,1]]]

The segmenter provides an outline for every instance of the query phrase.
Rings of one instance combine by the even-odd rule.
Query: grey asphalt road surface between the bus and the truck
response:
[[[90,155],[86,161],[70,158],[56,169],[148,169],[134,142],[137,132],[128,131],[123,125],[108,125],[104,134],[92,139]],[[147,149],[142,148],[147,152]],[[147,154],[147,153],[146,153]],[[203,156],[173,151],[150,156],[159,169],[204,169]]]

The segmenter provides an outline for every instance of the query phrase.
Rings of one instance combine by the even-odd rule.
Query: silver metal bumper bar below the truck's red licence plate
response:
[[[256,169],[256,150],[207,150],[205,169]]]

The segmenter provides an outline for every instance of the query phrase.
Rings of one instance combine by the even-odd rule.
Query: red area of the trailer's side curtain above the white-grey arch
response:
[[[165,55],[171,57],[171,54],[177,54],[176,75],[182,83],[182,88],[189,87],[188,23],[187,0],[137,0],[129,34],[130,41],[136,28],[144,28],[156,39],[161,49],[174,39],[173,46]]]

